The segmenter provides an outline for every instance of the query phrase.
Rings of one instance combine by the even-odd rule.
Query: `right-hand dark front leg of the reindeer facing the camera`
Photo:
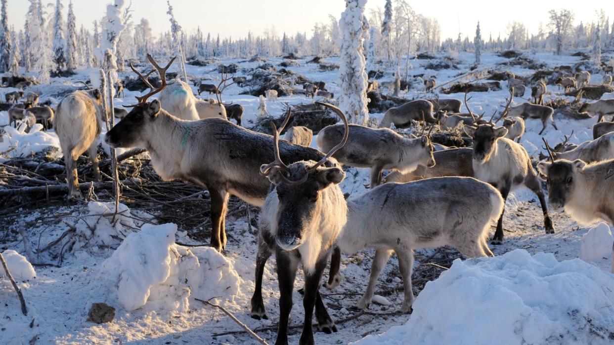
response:
[[[321,259],[316,262],[316,267],[314,271],[311,274],[305,274],[305,296],[303,297],[303,308],[305,308],[305,321],[303,322],[303,333],[301,334],[301,338],[298,341],[298,344],[314,344],[312,324],[313,309],[316,305],[317,296],[319,295],[318,289],[320,288],[320,280],[322,279],[322,273],[324,273],[324,268],[326,268],[327,259],[328,256],[322,256]],[[322,303],[322,306],[324,306],[324,303]],[[324,308],[324,311],[325,310],[326,308]],[[330,317],[327,317],[327,319],[330,319]],[[326,330],[328,327],[328,322],[323,323],[324,324],[322,325],[318,325],[319,327],[322,327],[323,330]],[[330,329],[328,330],[328,333],[330,333]]]

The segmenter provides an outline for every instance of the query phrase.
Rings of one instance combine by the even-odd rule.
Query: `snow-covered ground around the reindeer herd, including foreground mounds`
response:
[[[526,55],[550,67],[571,65],[580,59],[551,53]],[[300,66],[286,68],[310,80],[326,82],[328,89],[338,94],[336,70],[322,71],[317,64],[306,63],[310,58],[298,60]],[[473,55],[468,53],[454,58],[461,61],[460,69],[426,70],[423,66],[428,60],[411,60],[409,74],[436,76],[441,85],[466,72],[473,62]],[[511,70],[520,76],[535,72],[517,66],[497,66],[508,59],[490,53],[483,53],[481,59],[481,69]],[[338,63],[336,58],[325,60]],[[270,58],[267,62],[278,65],[281,61]],[[238,63],[241,70],[237,75],[244,75],[243,69],[262,64],[261,61],[250,63],[244,59],[220,63]],[[186,65],[186,68],[188,75],[202,80],[220,78],[214,65]],[[170,71],[177,70],[175,65]],[[392,72],[387,70],[386,76],[379,81],[391,81]],[[128,74],[122,72],[120,77]],[[66,86],[79,86],[78,80],[96,75],[95,70],[82,70],[71,78],[52,78],[51,85],[36,86],[36,91],[41,93],[42,101],[52,99],[56,104],[61,99],[58,94]],[[601,80],[600,75],[593,78]],[[506,82],[502,85],[502,91],[472,93],[470,106],[473,112],[485,112],[485,116],[490,116],[495,110],[502,110],[508,96]],[[550,95],[546,100],[562,93],[556,86],[548,88]],[[258,97],[239,94],[241,91],[243,89],[239,86],[231,85],[225,90],[223,100],[243,105],[243,124],[251,127],[257,120]],[[115,99],[115,106],[133,104],[133,97],[139,94],[126,90],[125,97]],[[402,96],[411,99],[430,94],[424,93],[418,80]],[[463,96],[440,95],[460,100]],[[524,97],[528,99],[529,96],[527,90]],[[614,95],[607,94],[604,98],[614,98]],[[268,112],[281,116],[286,102],[292,105],[311,102],[311,99],[297,95],[267,100]],[[517,98],[515,104],[518,102],[521,100]],[[378,119],[383,116],[370,115]],[[543,134],[548,142],[560,142],[564,135],[571,135],[573,131],[569,141],[581,143],[592,138],[591,127],[596,119],[577,121],[555,116],[555,121],[559,130],[549,125]],[[53,130],[26,134],[5,126],[7,123],[7,113],[0,112],[0,126],[4,126],[0,152],[15,146],[5,157],[28,156],[49,146],[59,147]],[[529,119],[526,124],[527,132],[521,143],[530,156],[537,157],[542,146],[542,136],[537,133],[542,123]],[[316,138],[312,146],[315,142]],[[57,153],[53,157],[59,156],[61,154]],[[369,182],[367,169],[349,169],[347,176],[341,185],[344,192],[356,195],[365,191],[365,184]],[[381,297],[374,298],[374,301],[380,303],[371,305],[369,313],[344,320],[358,313],[352,306],[366,287],[373,251],[344,256],[341,286],[332,292],[321,290],[332,319],[338,322],[338,332],[332,335],[316,333],[316,343],[345,344],[368,335],[371,336],[363,340],[368,344],[484,343],[487,340],[513,344],[523,341],[532,344],[611,343],[610,337],[614,335],[614,276],[609,273],[611,229],[607,224],[578,226],[564,213],[551,212],[551,217],[556,233],[546,235],[537,197],[528,189],[515,191],[506,205],[503,221],[505,241],[503,245],[492,247],[497,257],[455,261],[440,278],[427,283],[416,299],[411,316],[396,312],[402,303],[403,291],[398,263],[393,257],[379,278],[376,295],[379,293]],[[121,208],[114,217],[105,203],[90,202],[22,209],[4,219],[8,223],[0,224],[3,236],[0,249],[17,251],[32,263],[61,262],[61,267],[35,265],[32,269],[17,253],[5,251],[7,262],[20,281],[28,316],[21,314],[17,295],[9,281],[1,279],[0,305],[6,305],[0,309],[1,343],[25,344],[31,339],[36,339],[37,344],[254,343],[246,333],[219,335],[240,328],[219,309],[195,300],[212,297],[216,297],[212,299],[214,303],[227,308],[252,329],[271,327],[257,333],[269,343],[274,342],[279,319],[274,258],[267,263],[263,279],[263,298],[269,319],[249,317],[250,298],[254,291],[257,230],[248,226],[246,217],[229,217],[225,256],[209,248],[174,244],[174,241],[195,243],[187,236],[195,229],[157,224],[148,210],[139,210],[138,207]],[[26,234],[25,243],[20,232]],[[56,246],[34,254],[35,249],[45,248],[64,233],[68,233],[66,237],[76,237],[72,248],[62,252]],[[427,263],[426,259],[435,252],[435,249],[416,251],[416,267]],[[296,288],[300,289],[302,285],[300,271]],[[115,307],[113,322],[98,325],[88,321],[90,306],[96,302]],[[291,325],[301,325],[300,294],[294,295],[294,303],[290,322]],[[376,336],[381,333],[384,335]],[[290,334],[290,343],[298,343],[300,328],[292,329]],[[452,338],[454,335],[459,338]]]

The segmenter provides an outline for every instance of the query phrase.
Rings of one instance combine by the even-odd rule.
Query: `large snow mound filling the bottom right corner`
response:
[[[407,324],[360,344],[609,344],[614,276],[580,259],[516,249],[457,259],[426,284]]]

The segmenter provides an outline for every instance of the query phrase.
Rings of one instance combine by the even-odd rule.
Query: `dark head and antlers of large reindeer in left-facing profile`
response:
[[[148,138],[144,134],[144,131],[147,129],[147,125],[155,121],[158,117],[158,114],[161,110],[160,102],[155,99],[151,102],[147,102],[147,99],[154,94],[159,93],[164,88],[166,88],[166,70],[168,67],[171,67],[175,58],[172,58],[171,61],[166,65],[166,67],[162,68],[158,66],[155,60],[151,55],[147,54],[147,59],[158,71],[160,74],[160,80],[162,85],[160,88],[153,88],[153,86],[147,80],[150,74],[153,73],[154,70],[151,70],[146,75],[142,75],[138,70],[134,69],[134,66],[130,64],[130,68],[141,77],[143,82],[146,83],[147,86],[152,90],[144,96],[136,97],[139,101],[138,104],[135,105],[127,105],[126,107],[132,107],[132,110],[125,118],[122,119],[118,124],[116,124],[111,131],[107,132],[104,137],[104,141],[109,144],[111,147],[134,147],[134,146],[142,146],[144,140]]]

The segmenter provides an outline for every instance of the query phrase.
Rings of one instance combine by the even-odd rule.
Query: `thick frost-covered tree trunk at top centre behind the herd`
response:
[[[362,53],[362,17],[367,0],[346,0],[346,9],[339,21],[340,60],[339,80],[341,96],[339,107],[352,123],[366,125],[367,71]]]

